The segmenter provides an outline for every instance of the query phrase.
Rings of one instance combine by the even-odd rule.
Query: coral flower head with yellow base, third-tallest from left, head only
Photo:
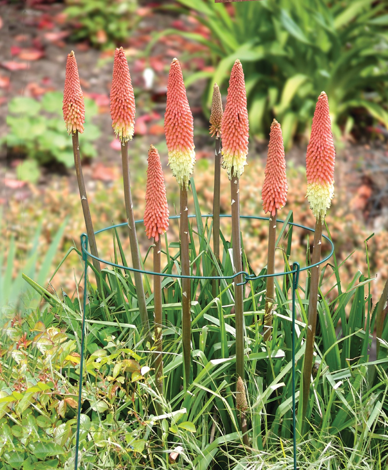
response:
[[[194,125],[178,59],[173,59],[170,65],[164,133],[172,174],[180,188],[188,188],[195,163]]]

